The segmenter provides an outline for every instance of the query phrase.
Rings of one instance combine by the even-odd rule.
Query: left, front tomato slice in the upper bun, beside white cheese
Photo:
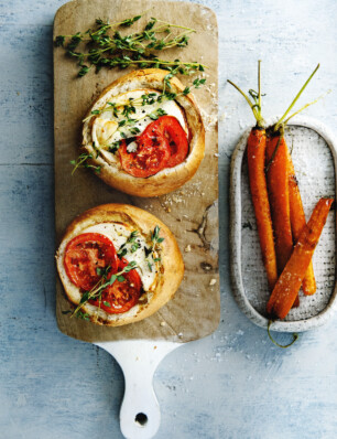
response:
[[[170,160],[167,140],[151,129],[150,124],[138,137],[135,152],[128,152],[127,142],[122,140],[119,148],[122,169],[133,176],[150,176],[166,168]]]

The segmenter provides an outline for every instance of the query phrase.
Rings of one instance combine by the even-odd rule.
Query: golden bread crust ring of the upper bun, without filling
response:
[[[89,108],[86,117],[91,115],[91,111],[102,108],[107,101],[110,101],[113,96],[120,95],[133,89],[150,88],[162,92],[164,87],[164,77],[167,71],[160,68],[145,68],[131,72],[121,76],[112,84],[110,84],[95,103]],[[171,81],[170,92],[182,93],[184,90],[183,84],[173,77]],[[189,152],[186,159],[174,168],[166,168],[155,175],[148,178],[137,178],[128,174],[120,165],[108,163],[101,156],[97,154],[93,148],[91,126],[93,121],[85,120],[83,126],[83,143],[85,151],[93,154],[91,164],[101,167],[99,176],[110,186],[126,192],[130,195],[137,196],[157,196],[172,192],[183,184],[185,184],[197,171],[205,153],[205,129],[200,111],[197,104],[189,93],[188,95],[178,96],[175,99],[185,111],[189,138]]]

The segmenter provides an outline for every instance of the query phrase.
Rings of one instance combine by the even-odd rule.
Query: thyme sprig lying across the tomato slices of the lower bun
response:
[[[101,301],[101,295],[107,287],[110,287],[118,280],[119,282],[123,282],[126,278],[122,276],[126,272],[129,272],[137,268],[137,263],[134,260],[130,261],[122,270],[113,274],[110,279],[108,279],[108,274],[111,267],[107,267],[105,269],[97,269],[98,276],[101,276],[98,282],[91,288],[90,291],[85,291],[80,298],[78,306],[72,312],[72,317],[77,315],[81,308],[89,301],[98,299]]]

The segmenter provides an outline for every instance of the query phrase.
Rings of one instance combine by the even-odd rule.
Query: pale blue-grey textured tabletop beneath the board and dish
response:
[[[336,126],[335,0],[203,0],[220,31],[221,323],[160,366],[157,438],[335,438],[337,317],[290,350],[238,310],[229,285],[229,160],[252,124],[226,84],[256,84],[263,60],[265,117],[280,114],[317,62],[302,101],[333,93],[307,114]],[[97,347],[55,321],[52,23],[59,0],[0,4],[0,438],[121,438],[123,378]],[[280,334],[283,342],[289,335]]]

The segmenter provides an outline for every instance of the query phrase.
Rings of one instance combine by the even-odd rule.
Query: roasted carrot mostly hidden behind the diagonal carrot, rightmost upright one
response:
[[[290,218],[294,243],[297,243],[301,232],[306,224],[303,203],[298,189],[297,179],[291,154],[287,150],[289,167],[289,201],[290,201]],[[303,279],[302,290],[305,296],[314,295],[316,291],[316,280],[314,275],[313,261],[311,261]]]

